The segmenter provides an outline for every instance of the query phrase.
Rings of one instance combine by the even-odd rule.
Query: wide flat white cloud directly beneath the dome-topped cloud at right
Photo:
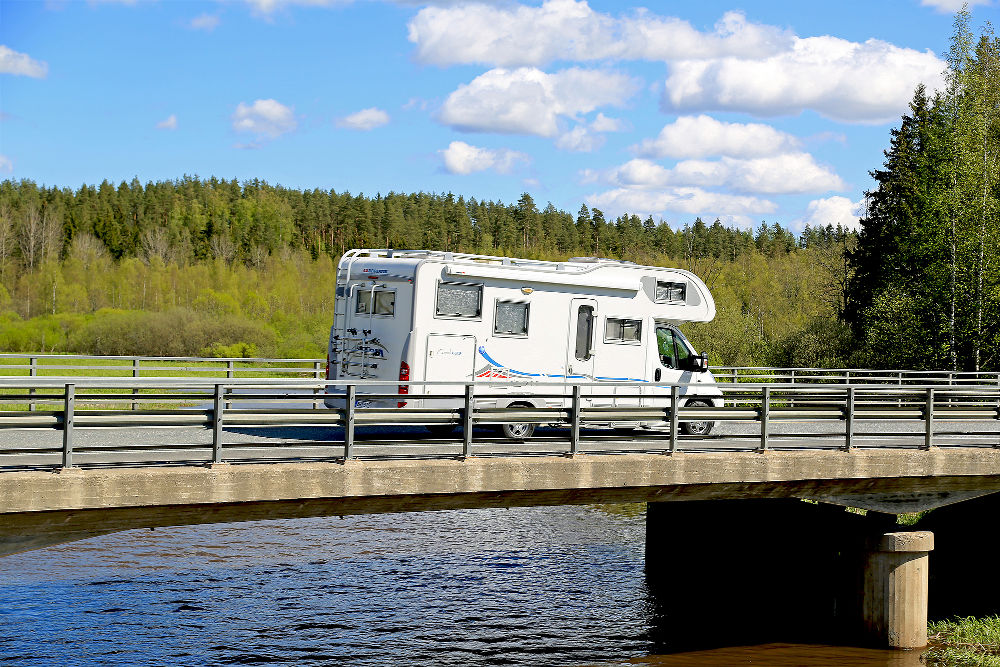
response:
[[[844,182],[808,153],[786,153],[748,160],[685,160],[666,168],[650,160],[635,159],[603,175],[587,172],[611,185],[627,188],[665,186],[725,187],[756,194],[827,192],[844,189]]]

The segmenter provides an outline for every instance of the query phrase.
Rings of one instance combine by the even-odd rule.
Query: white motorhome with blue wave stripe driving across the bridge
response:
[[[510,384],[502,398],[477,401],[487,407],[563,405],[535,394],[552,394],[552,383],[593,382],[640,388],[583,384],[586,405],[652,404],[653,397],[669,395],[674,383],[691,383],[680,389],[686,405],[721,405],[705,357],[678,328],[713,317],[715,302],[705,283],[679,269],[592,257],[545,262],[350,250],[337,267],[327,378],[398,381],[407,395],[393,407],[402,409],[436,405],[427,396],[461,394],[470,381]],[[329,390],[337,388],[331,384]],[[387,389],[358,388],[360,405],[381,405],[366,401],[365,391]],[[643,398],[634,398],[637,391]],[[595,396],[614,393],[633,398]],[[328,399],[328,405],[341,403]],[[711,427],[682,424],[688,433],[707,434]],[[530,437],[533,430],[531,424],[504,426],[515,438]]]

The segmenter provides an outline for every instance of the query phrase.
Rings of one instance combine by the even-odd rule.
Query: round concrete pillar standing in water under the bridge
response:
[[[873,539],[865,562],[864,627],[869,640],[890,648],[927,645],[928,531],[885,533]]]

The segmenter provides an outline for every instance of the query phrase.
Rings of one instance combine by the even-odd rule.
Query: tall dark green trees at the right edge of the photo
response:
[[[868,365],[1000,368],[1000,41],[956,15],[947,88],[919,87],[849,254]]]

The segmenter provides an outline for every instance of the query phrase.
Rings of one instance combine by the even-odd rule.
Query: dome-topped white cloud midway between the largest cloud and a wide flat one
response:
[[[655,139],[633,150],[643,157],[697,158],[712,155],[763,157],[799,147],[799,140],[761,123],[724,123],[711,116],[681,116]]]

